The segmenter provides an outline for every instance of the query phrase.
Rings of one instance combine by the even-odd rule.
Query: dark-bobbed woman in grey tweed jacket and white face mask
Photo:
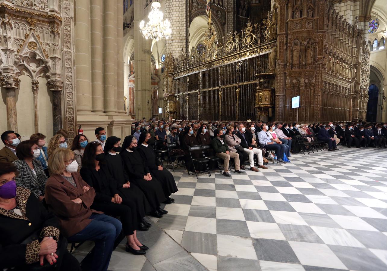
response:
[[[40,150],[34,141],[22,141],[16,148],[18,160],[13,163],[19,171],[19,176],[15,179],[16,185],[29,189],[39,201],[43,201],[48,177],[41,162],[36,160],[39,155]]]

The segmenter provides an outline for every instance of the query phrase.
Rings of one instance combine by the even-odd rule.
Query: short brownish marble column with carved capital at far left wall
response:
[[[17,114],[16,114],[16,89],[19,87],[20,79],[15,75],[2,75],[0,85],[6,94],[7,104],[7,129],[17,132]]]

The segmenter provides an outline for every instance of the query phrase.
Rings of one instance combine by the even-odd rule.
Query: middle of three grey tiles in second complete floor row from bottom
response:
[[[279,228],[281,229],[286,240],[288,241],[319,243],[319,244],[324,243],[320,239],[320,237],[309,226],[279,224]]]

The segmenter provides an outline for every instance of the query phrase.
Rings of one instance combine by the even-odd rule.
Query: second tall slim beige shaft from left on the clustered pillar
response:
[[[84,0],[86,2],[86,0]],[[92,112],[103,114],[102,0],[90,0]]]

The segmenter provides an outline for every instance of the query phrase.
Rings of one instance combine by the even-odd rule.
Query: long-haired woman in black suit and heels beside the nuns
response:
[[[101,144],[98,142],[88,144],[82,160],[84,166],[79,172],[80,176],[96,192],[90,207],[107,215],[119,216],[123,233],[127,238],[126,251],[134,255],[145,254],[148,247],[143,246],[137,239],[137,206],[120,197],[118,184],[110,175]]]

